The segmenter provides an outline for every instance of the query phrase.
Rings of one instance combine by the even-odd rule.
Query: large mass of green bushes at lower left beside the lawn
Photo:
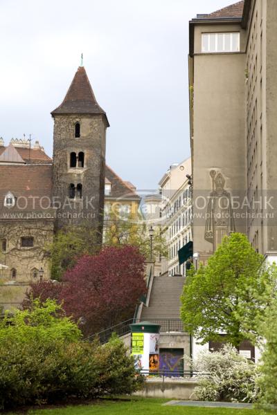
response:
[[[120,340],[80,341],[78,327],[51,300],[0,323],[0,409],[130,394],[140,385]]]

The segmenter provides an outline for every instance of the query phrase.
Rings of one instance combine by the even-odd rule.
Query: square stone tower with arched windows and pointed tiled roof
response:
[[[109,122],[83,66],[75,73],[62,104],[51,115],[56,228],[90,223],[102,232]]]

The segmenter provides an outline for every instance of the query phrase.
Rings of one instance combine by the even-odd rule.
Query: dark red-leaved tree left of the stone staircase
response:
[[[84,255],[61,283],[32,284],[28,298],[57,299],[66,315],[81,320],[84,333],[90,334],[133,317],[145,292],[144,258],[137,248],[123,246]]]

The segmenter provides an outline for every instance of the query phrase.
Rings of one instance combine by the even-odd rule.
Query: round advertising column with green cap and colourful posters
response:
[[[159,337],[161,326],[150,322],[130,324],[132,355],[136,367],[145,375],[159,371]]]

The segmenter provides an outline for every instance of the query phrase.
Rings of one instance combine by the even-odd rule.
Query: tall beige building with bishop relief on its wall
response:
[[[239,1],[189,26],[194,251],[205,261],[238,231],[274,261],[277,1]]]

